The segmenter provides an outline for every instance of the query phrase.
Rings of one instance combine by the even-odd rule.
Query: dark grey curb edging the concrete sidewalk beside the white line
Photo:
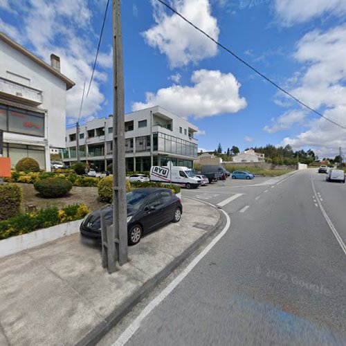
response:
[[[190,198],[190,197],[184,197]],[[201,203],[208,204],[212,206],[210,203],[206,203],[204,201],[200,201]],[[138,303],[140,300],[145,298],[149,293],[163,281],[170,273],[172,273],[181,263],[183,263],[194,251],[199,248],[206,241],[210,235],[215,233],[219,228],[223,227],[226,223],[226,217],[224,217],[223,213],[217,208],[213,206],[219,212],[219,221],[217,224],[212,227],[207,233],[202,235],[196,242],[191,244],[179,257],[176,257],[170,264],[168,264],[160,273],[157,273],[154,277],[152,277],[148,282],[146,282],[140,289],[134,293],[131,297],[129,297],[125,302],[123,302],[120,307],[115,309],[112,313],[104,319],[105,322],[101,322],[91,331],[89,331],[86,336],[84,336],[76,346],[91,346],[96,345],[104,335],[106,335],[131,309]]]

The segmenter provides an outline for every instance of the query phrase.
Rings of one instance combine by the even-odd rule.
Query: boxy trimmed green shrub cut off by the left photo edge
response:
[[[0,185],[0,220],[19,214],[22,199],[23,192],[19,185]]]

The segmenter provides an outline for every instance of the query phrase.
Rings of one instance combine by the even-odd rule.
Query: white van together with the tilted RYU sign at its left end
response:
[[[194,175],[194,172],[188,167],[172,166],[153,166],[150,169],[150,181],[159,183],[172,183],[183,186],[187,189],[198,188],[201,185],[201,179]]]

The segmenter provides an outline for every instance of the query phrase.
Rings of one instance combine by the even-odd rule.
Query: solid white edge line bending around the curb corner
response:
[[[224,210],[221,210],[224,212]],[[169,295],[176,286],[179,285],[179,283],[185,278],[190,271],[202,260],[202,258],[219,242],[219,240],[224,237],[226,234],[228,228],[230,227],[230,217],[227,215],[226,212],[224,212],[224,215],[226,216],[226,226],[224,229],[215,237],[212,239],[212,242],[204,250],[192,260],[192,262],[163,290],[159,295],[156,296],[147,306],[143,309],[143,311],[138,315],[138,317],[134,320],[134,322],[125,329],[125,331],[122,332],[122,334],[119,336],[118,340],[116,340],[115,343],[113,343],[112,346],[122,346],[127,343],[127,341],[133,336],[137,329],[140,327],[140,323],[151,313],[157,306],[160,304],[166,297]]]

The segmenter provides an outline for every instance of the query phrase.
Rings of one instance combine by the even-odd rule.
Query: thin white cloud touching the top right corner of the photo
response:
[[[275,0],[274,8],[280,23],[291,26],[321,15],[341,17],[346,14],[346,0]]]

